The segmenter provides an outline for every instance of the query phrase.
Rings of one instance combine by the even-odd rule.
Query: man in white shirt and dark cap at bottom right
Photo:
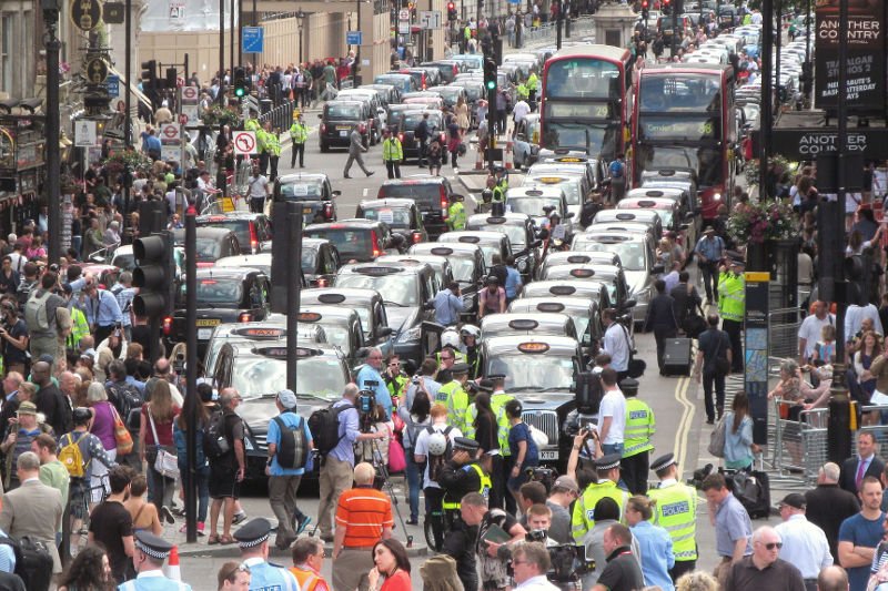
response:
[[[824,530],[805,518],[805,506],[804,495],[791,492],[784,497],[779,505],[784,522],[774,529],[784,544],[780,558],[795,564],[805,579],[805,588],[814,590],[820,570],[833,564],[833,554]]]

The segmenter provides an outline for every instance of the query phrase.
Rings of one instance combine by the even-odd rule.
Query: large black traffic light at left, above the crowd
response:
[[[132,272],[132,284],[139,287],[139,295],[132,300],[133,312],[149,318],[170,316],[175,296],[172,233],[137,238],[132,251],[138,265]]]

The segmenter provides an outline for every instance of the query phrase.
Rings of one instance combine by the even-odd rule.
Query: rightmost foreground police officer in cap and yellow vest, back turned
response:
[[[673,581],[697,567],[697,490],[678,479],[675,454],[666,454],[650,462],[659,478],[657,488],[647,491],[657,501],[654,523],[660,526],[673,539],[675,567],[669,571]]]

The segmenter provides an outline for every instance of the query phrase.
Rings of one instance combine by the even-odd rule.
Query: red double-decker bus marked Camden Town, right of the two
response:
[[[646,171],[696,174],[704,220],[730,207],[736,172],[734,69],[664,63],[642,70],[635,98],[634,186]]]

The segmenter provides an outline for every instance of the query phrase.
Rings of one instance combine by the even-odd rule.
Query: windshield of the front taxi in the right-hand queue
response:
[[[485,375],[506,376],[506,391],[569,390],[574,381],[574,359],[549,354],[497,355],[487,363]]]

